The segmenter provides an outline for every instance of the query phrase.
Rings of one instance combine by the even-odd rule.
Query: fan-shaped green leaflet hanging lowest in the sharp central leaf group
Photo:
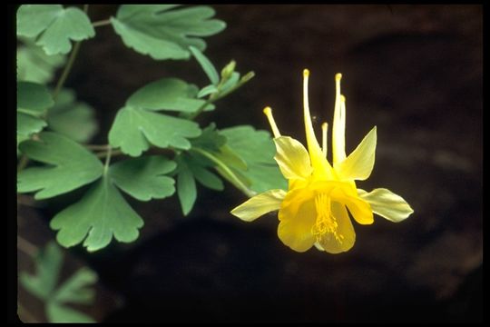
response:
[[[51,228],[59,230],[58,243],[70,247],[84,240],[83,246],[89,252],[107,246],[113,237],[123,243],[136,240],[142,225],[142,218],[107,175],[93,184],[79,202],[57,213],[50,223]]]

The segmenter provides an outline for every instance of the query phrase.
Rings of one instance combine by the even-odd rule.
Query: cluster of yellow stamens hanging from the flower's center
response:
[[[315,197],[315,207],[317,209],[317,221],[311,227],[311,233],[315,235],[319,242],[323,237],[330,241],[332,237],[338,243],[342,243],[344,235],[338,233],[337,219],[330,210],[330,198],[326,193],[319,193]]]

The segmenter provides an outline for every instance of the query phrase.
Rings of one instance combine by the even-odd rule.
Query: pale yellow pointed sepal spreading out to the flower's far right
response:
[[[414,212],[401,196],[384,188],[374,189],[369,193],[358,189],[358,194],[371,205],[373,213],[393,223],[407,219]]]

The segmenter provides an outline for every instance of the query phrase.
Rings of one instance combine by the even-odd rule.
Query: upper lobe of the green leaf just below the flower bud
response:
[[[162,78],[136,91],[126,104],[138,109],[193,113],[205,103],[195,95],[193,85],[177,78]]]

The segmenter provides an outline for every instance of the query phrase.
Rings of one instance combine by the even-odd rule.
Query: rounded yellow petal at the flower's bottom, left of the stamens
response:
[[[282,243],[302,253],[316,242],[316,237],[311,233],[311,227],[317,219],[315,201],[313,198],[304,201],[305,193],[308,192],[299,190],[291,193],[288,193],[279,209],[278,236]]]

